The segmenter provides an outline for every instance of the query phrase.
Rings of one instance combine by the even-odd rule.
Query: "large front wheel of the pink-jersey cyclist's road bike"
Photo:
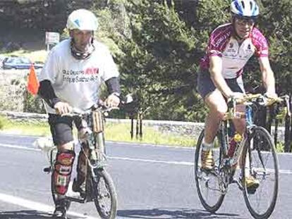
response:
[[[278,159],[271,135],[263,127],[255,127],[243,150],[243,179],[252,175],[260,182],[250,190],[243,180],[243,196],[251,215],[257,219],[269,218],[274,211],[279,186]]]

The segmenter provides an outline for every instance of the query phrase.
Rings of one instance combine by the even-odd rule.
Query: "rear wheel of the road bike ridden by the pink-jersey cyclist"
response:
[[[197,195],[202,203],[202,206],[214,213],[217,211],[223,200],[225,194],[221,192],[219,177],[212,172],[206,172],[201,168],[201,153],[202,153],[202,139],[204,137],[204,130],[201,132],[200,137],[197,139],[197,146],[195,150],[195,182],[197,187]],[[216,144],[217,140],[214,140]],[[218,143],[219,144],[219,143]],[[214,171],[219,169],[221,152],[214,151],[215,168]]]

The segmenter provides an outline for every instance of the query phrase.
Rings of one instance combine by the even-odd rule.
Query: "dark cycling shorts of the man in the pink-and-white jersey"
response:
[[[243,78],[241,76],[232,79],[225,79],[225,81],[233,92],[245,93]],[[209,72],[207,70],[200,71],[197,77],[197,91],[202,98],[205,99],[205,97],[209,93],[214,92],[215,89],[216,86],[214,85]]]

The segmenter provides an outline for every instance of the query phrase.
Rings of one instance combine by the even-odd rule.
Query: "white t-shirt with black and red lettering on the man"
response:
[[[71,55],[71,39],[66,39],[51,49],[38,80],[49,80],[56,96],[70,106],[90,108],[98,101],[102,81],[118,77],[118,68],[107,46],[94,42],[95,51],[84,60]],[[56,113],[46,103],[48,113]]]

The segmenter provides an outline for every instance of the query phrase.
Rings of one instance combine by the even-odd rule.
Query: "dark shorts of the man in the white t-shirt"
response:
[[[63,145],[73,141],[73,122],[78,127],[80,121],[70,117],[49,113],[49,126],[55,145]]]

